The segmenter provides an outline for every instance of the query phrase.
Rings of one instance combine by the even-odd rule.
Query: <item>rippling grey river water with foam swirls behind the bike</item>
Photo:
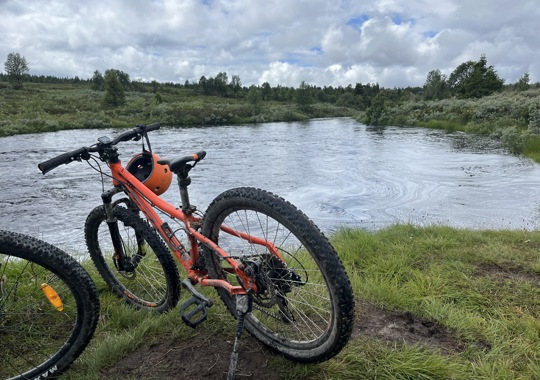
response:
[[[0,138],[0,228],[84,250],[100,176],[85,162],[42,175],[37,164],[118,130],[77,130]],[[394,223],[473,229],[537,229],[540,165],[495,141],[463,133],[368,127],[348,118],[204,128],[150,135],[165,158],[206,150],[190,196],[204,210],[220,192],[256,186],[303,210],[325,232]],[[119,145],[127,160],[139,143]],[[106,181],[107,187],[109,182]],[[173,181],[162,195],[177,203]]]

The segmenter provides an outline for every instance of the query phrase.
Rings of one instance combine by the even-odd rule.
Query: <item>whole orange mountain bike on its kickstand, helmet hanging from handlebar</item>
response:
[[[183,321],[198,326],[212,306],[197,284],[216,288],[238,319],[233,371],[244,328],[293,360],[335,356],[352,332],[354,297],[327,238],[292,204],[256,188],[225,191],[199,212],[189,200],[189,172],[206,153],[159,159],[148,138],[158,128],[138,125],[39,164],[45,174],[87,160],[102,181],[112,179],[103,205],[90,212],[85,224],[90,256],[108,285],[139,308],[164,312],[175,307],[180,280],[172,252],[187,274],[181,285],[192,295],[180,306]],[[116,145],[129,140],[141,141],[142,153],[124,167]],[[101,170],[100,161],[110,172]],[[178,207],[159,196],[172,173],[180,190]],[[120,198],[113,200],[116,195]]]

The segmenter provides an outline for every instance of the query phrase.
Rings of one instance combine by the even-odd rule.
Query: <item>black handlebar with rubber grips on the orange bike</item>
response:
[[[101,137],[98,139],[98,143],[91,147],[82,147],[79,149],[75,149],[71,152],[62,153],[59,156],[53,157],[47,161],[41,162],[38,164],[39,170],[41,170],[41,173],[45,174],[47,172],[50,172],[54,168],[62,165],[62,164],[69,164],[73,161],[80,161],[82,159],[88,159],[89,153],[92,152],[98,152],[100,148],[104,145],[116,145],[122,141],[129,141],[129,140],[138,140],[143,136],[146,132],[155,131],[160,128],[159,124],[140,124],[137,125],[135,128],[123,132],[120,135],[116,136],[113,140],[110,140],[108,137]]]

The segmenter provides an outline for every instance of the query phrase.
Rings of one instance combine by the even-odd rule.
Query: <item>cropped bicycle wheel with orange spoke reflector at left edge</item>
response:
[[[90,342],[99,298],[83,267],[30,236],[0,231],[0,378],[58,375]]]

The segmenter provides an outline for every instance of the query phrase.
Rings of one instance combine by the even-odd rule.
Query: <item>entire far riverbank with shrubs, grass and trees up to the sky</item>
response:
[[[525,73],[504,84],[485,56],[459,65],[448,78],[428,73],[423,87],[298,88],[242,86],[226,73],[198,82],[151,83],[109,69],[92,78],[29,75],[16,53],[0,73],[0,137],[77,128],[247,124],[348,116],[368,125],[443,128],[499,139],[511,152],[540,162],[540,83]],[[23,86],[24,80],[24,86]]]

